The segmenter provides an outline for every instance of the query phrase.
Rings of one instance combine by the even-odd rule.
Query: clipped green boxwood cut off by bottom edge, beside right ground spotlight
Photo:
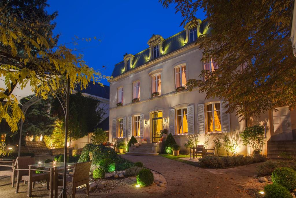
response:
[[[292,198],[290,192],[279,184],[267,184],[264,192],[266,198]]]

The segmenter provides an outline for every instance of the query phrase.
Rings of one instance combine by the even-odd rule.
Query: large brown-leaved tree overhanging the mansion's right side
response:
[[[218,65],[202,71],[207,80],[190,79],[189,90],[199,87],[207,99],[227,100],[228,112],[242,119],[296,107],[296,59],[289,39],[293,0],[161,0],[164,7],[174,2],[184,17],[181,25],[196,20],[198,9],[206,11],[203,23],[210,24],[210,35],[201,35],[196,44],[202,61],[212,58]]]

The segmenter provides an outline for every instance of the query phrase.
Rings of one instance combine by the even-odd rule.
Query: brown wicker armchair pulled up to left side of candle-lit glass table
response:
[[[22,158],[17,160],[17,188],[16,188],[16,193],[18,193],[19,190],[19,186],[20,186],[20,181],[23,180],[24,183],[27,181],[28,182],[28,186],[30,186],[30,183],[33,183],[33,188],[35,186],[35,182],[36,181],[41,181],[41,180],[47,180],[47,186],[46,189],[49,189],[49,173],[40,173],[40,174],[36,174],[33,173],[32,174],[32,178],[29,178],[29,169],[28,166],[31,164],[35,164],[35,158]],[[35,170],[31,170],[34,171]],[[32,191],[32,189],[28,189],[30,192]],[[30,193],[31,194],[31,193]]]

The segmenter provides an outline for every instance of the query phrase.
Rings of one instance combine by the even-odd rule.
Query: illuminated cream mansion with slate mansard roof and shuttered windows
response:
[[[239,138],[245,123],[240,122],[235,112],[226,113],[227,102],[216,98],[205,100],[205,94],[199,93],[198,88],[185,89],[186,80],[204,80],[200,78],[201,71],[211,71],[217,66],[213,60],[201,61],[202,51],[194,42],[200,34],[210,31],[208,25],[198,20],[184,28],[167,39],[152,35],[147,42],[149,48],[135,55],[126,53],[123,61],[115,65],[110,82],[110,141],[115,138],[128,141],[133,135],[149,143],[158,142],[160,130],[168,129],[181,150],[185,150],[184,144],[193,134],[200,135],[200,144],[209,136],[208,148],[213,148],[214,139],[223,141],[227,135],[238,143],[235,153],[251,154],[250,147],[243,146]],[[282,107],[280,111],[251,118],[251,124],[265,126],[266,141],[271,135],[277,135],[276,140],[292,140],[292,129],[296,129],[296,122],[291,124],[292,117],[295,120],[295,111]],[[288,124],[288,129],[283,127]],[[264,154],[266,149],[265,145]]]

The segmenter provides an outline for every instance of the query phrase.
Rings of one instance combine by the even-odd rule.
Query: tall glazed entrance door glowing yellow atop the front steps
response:
[[[151,114],[152,121],[152,142],[158,142],[160,139],[160,130],[163,130],[163,112],[158,111]]]

